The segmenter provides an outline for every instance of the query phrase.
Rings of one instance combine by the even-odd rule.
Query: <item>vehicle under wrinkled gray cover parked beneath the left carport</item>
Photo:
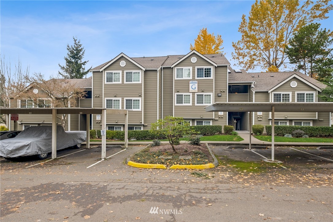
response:
[[[57,150],[86,141],[86,131],[65,131],[57,126]],[[30,156],[52,151],[52,126],[31,126],[15,138],[0,141],[3,157]]]

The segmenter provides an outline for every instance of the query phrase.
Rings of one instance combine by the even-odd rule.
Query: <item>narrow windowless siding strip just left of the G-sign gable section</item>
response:
[[[172,115],[173,69],[163,68],[163,118]]]

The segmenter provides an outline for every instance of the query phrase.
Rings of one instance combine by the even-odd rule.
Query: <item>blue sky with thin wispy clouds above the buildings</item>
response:
[[[254,1],[0,1],[1,55],[21,60],[47,78],[64,65],[67,44],[81,40],[98,66],[121,52],[130,57],[183,55],[200,29],[220,34],[233,65],[232,42],[240,39],[242,14]],[[321,21],[333,28],[333,13]],[[91,75],[88,75],[91,76]]]

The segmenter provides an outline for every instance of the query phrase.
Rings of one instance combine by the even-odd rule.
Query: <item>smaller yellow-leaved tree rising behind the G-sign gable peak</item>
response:
[[[194,40],[194,46],[190,44],[189,49],[194,49],[201,54],[218,54],[223,53],[222,43],[221,35],[214,36],[214,33],[209,34],[207,32],[207,28],[202,28],[198,37]]]

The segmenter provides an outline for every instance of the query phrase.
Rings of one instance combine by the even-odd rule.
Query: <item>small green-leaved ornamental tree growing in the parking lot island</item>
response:
[[[170,115],[152,123],[151,132],[156,133],[156,131],[168,138],[172,150],[175,153],[177,153],[177,151],[174,148],[174,144],[179,140],[179,137],[197,133],[191,129],[189,122],[184,121],[182,117],[173,117]]]

